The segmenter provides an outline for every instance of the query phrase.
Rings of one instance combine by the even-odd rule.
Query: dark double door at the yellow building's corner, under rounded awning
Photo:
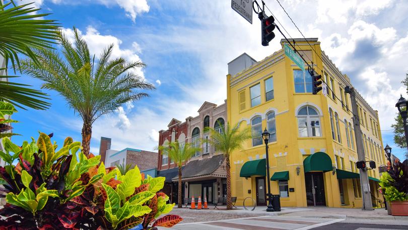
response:
[[[322,172],[305,173],[307,206],[326,206]]]

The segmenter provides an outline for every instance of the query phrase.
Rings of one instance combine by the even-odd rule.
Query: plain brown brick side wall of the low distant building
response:
[[[157,166],[158,154],[142,150],[141,152],[127,150],[126,164],[138,165],[140,170],[152,169]]]

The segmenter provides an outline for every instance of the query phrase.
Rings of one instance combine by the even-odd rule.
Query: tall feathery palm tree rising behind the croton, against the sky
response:
[[[141,61],[126,62],[111,58],[113,44],[105,48],[97,62],[88,45],[74,28],[74,44],[63,33],[58,33],[62,56],[53,49],[34,49],[38,63],[29,59],[22,62],[25,73],[45,81],[42,88],[57,91],[83,120],[82,146],[90,153],[92,124],[102,115],[115,111],[120,105],[149,96],[135,89],[154,89],[133,70],[142,68]]]

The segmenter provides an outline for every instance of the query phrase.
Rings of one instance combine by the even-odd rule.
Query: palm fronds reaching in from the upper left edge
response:
[[[50,105],[43,100],[49,99],[46,93],[31,89],[27,84],[10,82],[9,78],[17,76],[7,76],[9,61],[14,73],[20,70],[19,54],[37,61],[31,49],[51,48],[55,43],[59,26],[54,20],[41,19],[49,14],[36,14],[40,9],[31,4],[16,6],[13,1],[6,4],[0,1],[0,56],[5,58],[1,64],[5,66],[0,66],[0,100],[23,109],[23,106],[46,109]]]

